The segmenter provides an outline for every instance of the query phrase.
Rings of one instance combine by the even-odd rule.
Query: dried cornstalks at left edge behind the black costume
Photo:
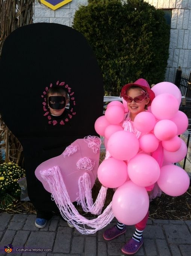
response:
[[[18,27],[33,23],[35,0],[0,0],[0,55],[6,37]],[[17,49],[15,49],[17,52]],[[5,162],[23,164],[22,146],[0,116],[0,149],[5,149]]]

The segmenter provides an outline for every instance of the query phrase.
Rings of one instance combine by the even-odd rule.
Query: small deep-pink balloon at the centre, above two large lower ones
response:
[[[154,134],[145,134],[139,139],[139,146],[142,151],[150,153],[155,151],[159,146],[159,140]]]

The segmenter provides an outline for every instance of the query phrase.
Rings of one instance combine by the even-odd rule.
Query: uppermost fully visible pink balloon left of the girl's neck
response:
[[[109,123],[117,125],[124,119],[124,109],[118,105],[112,105],[105,111],[105,118]]]

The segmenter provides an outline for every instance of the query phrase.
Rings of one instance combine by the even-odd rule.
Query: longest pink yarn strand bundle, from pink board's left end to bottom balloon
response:
[[[65,220],[70,221],[70,223],[80,233],[94,234],[97,232],[97,230],[103,229],[103,227],[107,226],[108,223],[111,222],[111,220],[114,218],[111,203],[103,211],[103,213],[95,219],[86,219],[80,215],[70,201],[70,197],[66,190],[61,171],[58,166],[54,166],[48,170],[40,171],[40,174],[41,177],[49,184],[52,200],[55,200],[55,203],[57,204],[62,217]],[[92,229],[86,228],[85,225],[91,227]]]

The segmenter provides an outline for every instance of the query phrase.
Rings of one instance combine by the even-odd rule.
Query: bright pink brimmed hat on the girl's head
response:
[[[121,97],[123,97],[123,95],[126,95],[127,94],[127,90],[130,88],[130,87],[133,87],[133,86],[139,86],[141,87],[144,91],[146,91],[149,95],[149,99],[150,99],[150,102],[148,105],[151,104],[151,102],[153,101],[153,99],[155,98],[155,93],[154,91],[152,91],[150,89],[150,86],[148,84],[148,82],[143,79],[143,78],[139,78],[138,80],[136,80],[134,83],[132,84],[126,84],[123,86],[123,88],[121,89]]]

